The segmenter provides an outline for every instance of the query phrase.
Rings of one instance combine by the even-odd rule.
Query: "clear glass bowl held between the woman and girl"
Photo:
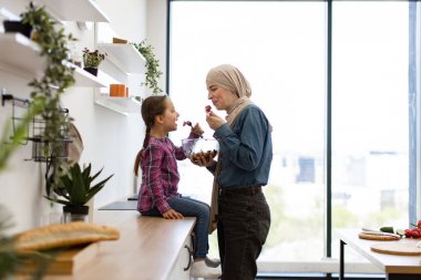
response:
[[[193,160],[199,156],[214,158],[219,152],[218,142],[212,138],[182,139],[182,145],[186,156]]]

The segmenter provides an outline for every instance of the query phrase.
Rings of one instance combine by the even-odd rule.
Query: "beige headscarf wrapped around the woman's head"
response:
[[[235,93],[238,100],[227,110],[226,116],[228,125],[232,125],[237,115],[251,103],[251,87],[243,73],[230,64],[222,64],[209,70],[206,76],[206,86],[212,85],[224,87]]]

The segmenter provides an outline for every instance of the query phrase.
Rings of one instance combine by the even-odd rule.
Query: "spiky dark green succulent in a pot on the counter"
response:
[[[102,173],[99,170],[95,175],[91,176],[91,164],[81,169],[79,163],[73,164],[68,172],[59,177],[59,182],[53,188],[55,195],[62,197],[49,197],[47,199],[62,204],[64,216],[71,217],[71,220],[82,219],[89,214],[89,206],[86,203],[96,195],[104,186],[105,183],[113,176],[110,175],[107,178],[92,184],[92,182]],[[65,220],[69,219],[65,217]]]

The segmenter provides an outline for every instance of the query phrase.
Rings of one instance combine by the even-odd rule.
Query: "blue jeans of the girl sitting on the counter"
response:
[[[208,252],[208,228],[209,228],[209,211],[210,207],[199,200],[189,197],[175,197],[170,199],[168,205],[175,211],[182,214],[185,217],[196,217],[196,225],[194,226],[195,234],[195,251],[193,257],[205,258]],[[148,211],[142,211],[144,216],[160,216],[161,212],[157,208],[152,208]]]

